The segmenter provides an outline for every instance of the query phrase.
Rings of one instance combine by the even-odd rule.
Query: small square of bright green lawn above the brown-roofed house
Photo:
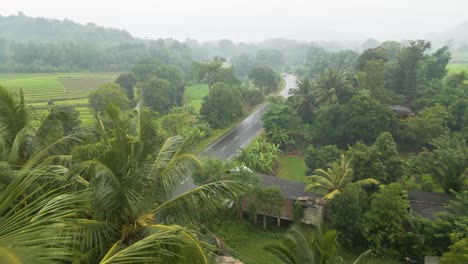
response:
[[[305,182],[306,170],[304,157],[282,154],[279,159],[277,176],[291,181]]]

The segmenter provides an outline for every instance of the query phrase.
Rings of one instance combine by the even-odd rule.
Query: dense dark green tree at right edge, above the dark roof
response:
[[[466,186],[468,153],[464,139],[442,136],[433,140],[432,150],[424,149],[409,160],[410,175],[430,174],[449,192]]]

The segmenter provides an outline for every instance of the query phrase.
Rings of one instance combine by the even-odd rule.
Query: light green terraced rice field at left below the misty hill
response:
[[[42,114],[54,105],[72,105],[80,111],[83,124],[91,121],[88,94],[96,86],[113,82],[118,73],[19,73],[0,74],[0,85],[19,92],[22,88],[26,101]]]

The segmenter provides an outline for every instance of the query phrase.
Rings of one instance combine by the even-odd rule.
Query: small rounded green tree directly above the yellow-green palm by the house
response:
[[[328,145],[323,147],[307,148],[304,153],[304,160],[308,168],[308,173],[316,169],[326,169],[331,164],[340,158],[340,151],[336,145]]]

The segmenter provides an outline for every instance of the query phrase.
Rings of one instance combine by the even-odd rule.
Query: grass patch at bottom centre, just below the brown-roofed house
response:
[[[264,248],[279,244],[285,230],[263,231],[248,221],[225,221],[213,232],[228,246],[229,253],[245,264],[283,263]]]

